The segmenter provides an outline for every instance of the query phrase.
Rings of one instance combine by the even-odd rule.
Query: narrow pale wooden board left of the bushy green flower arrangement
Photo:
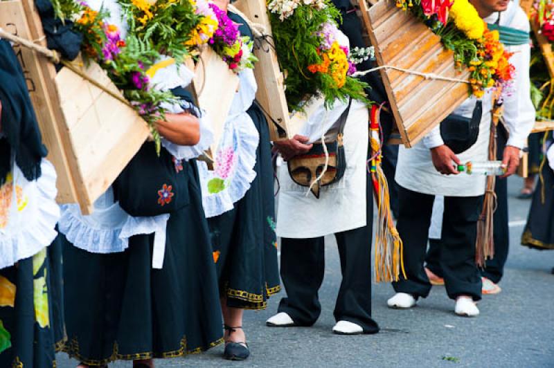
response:
[[[250,21],[264,26],[267,35],[272,34],[266,0],[239,0],[233,3],[233,6],[243,12]],[[285,80],[280,71],[273,39],[271,37],[256,39],[254,55],[259,60],[254,68],[258,84],[256,100],[267,116],[270,138],[273,141],[290,138]]]

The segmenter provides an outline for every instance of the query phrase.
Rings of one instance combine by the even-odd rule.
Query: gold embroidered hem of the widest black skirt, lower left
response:
[[[109,362],[114,362],[114,360],[145,360],[152,358],[179,358],[181,356],[188,356],[190,354],[202,353],[213,347],[216,347],[219,344],[223,343],[223,338],[211,342],[208,344],[208,347],[198,347],[196,349],[188,350],[186,348],[186,337],[181,339],[181,348],[174,351],[166,351],[163,353],[153,353],[152,351],[147,351],[144,353],[134,353],[134,354],[120,354],[118,353],[117,342],[114,342],[114,348],[109,358],[102,360],[87,359],[86,357],[80,354],[79,342],[77,338],[73,338],[71,342],[66,343],[63,351],[67,353],[71,358],[75,358],[85,365],[107,365]]]

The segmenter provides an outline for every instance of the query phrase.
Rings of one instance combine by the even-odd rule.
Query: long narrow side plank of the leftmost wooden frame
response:
[[[33,22],[28,21],[26,15],[30,15]],[[38,15],[35,12],[32,2],[20,0],[0,2],[0,27],[9,33],[26,39],[42,39],[44,35],[42,26],[36,26],[35,21]],[[46,42],[42,42],[45,46]],[[57,122],[62,119],[62,112],[55,101],[55,89],[51,83],[50,76],[53,65],[48,60],[33,51],[14,44],[14,52],[17,55],[19,64],[24,71],[28,85],[29,95],[40,130],[42,140],[48,148],[48,160],[56,168],[57,173],[57,201],[60,203],[71,203],[77,201],[77,192],[73,185],[73,176],[69,162],[66,158],[64,145],[61,145],[62,132],[57,127]],[[51,98],[53,96],[53,99]]]

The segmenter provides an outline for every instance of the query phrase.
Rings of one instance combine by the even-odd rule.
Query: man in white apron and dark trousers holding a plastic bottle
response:
[[[470,3],[490,24],[494,24],[500,15],[500,26],[507,25],[503,23],[508,18],[503,17],[506,8],[517,6],[509,1],[496,0],[470,0]],[[524,24],[527,20],[519,14],[514,21]],[[510,64],[515,66],[516,79],[513,83],[515,91],[503,95],[503,118],[510,131],[503,151],[504,178],[515,172],[520,149],[533,126],[535,112],[529,98],[529,58],[529,47],[523,45],[510,58]],[[400,147],[396,172],[396,181],[400,185],[397,228],[404,241],[404,266],[408,277],[393,283],[396,295],[387,302],[391,308],[411,308],[419,297],[429,295],[431,284],[424,268],[425,250],[434,198],[442,195],[445,204],[439,262],[446,291],[451,299],[456,300],[456,314],[479,315],[475,302],[481,299],[482,285],[475,257],[485,176],[460,174],[454,164],[488,160],[492,100],[492,91],[487,90],[481,100],[472,96],[454,111],[456,116],[472,120],[480,118],[479,137],[474,145],[470,143],[470,147],[463,149],[460,149],[463,142],[452,145],[456,147],[454,149],[460,149],[460,154],[454,154],[453,148],[445,145],[440,127],[412,149]]]

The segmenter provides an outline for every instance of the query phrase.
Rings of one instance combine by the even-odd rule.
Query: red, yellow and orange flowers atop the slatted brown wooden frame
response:
[[[472,94],[481,98],[485,89],[510,90],[515,69],[511,55],[499,42],[497,30],[487,24],[467,0],[397,0],[398,8],[409,10],[441,37],[454,51],[457,68],[469,68]]]

